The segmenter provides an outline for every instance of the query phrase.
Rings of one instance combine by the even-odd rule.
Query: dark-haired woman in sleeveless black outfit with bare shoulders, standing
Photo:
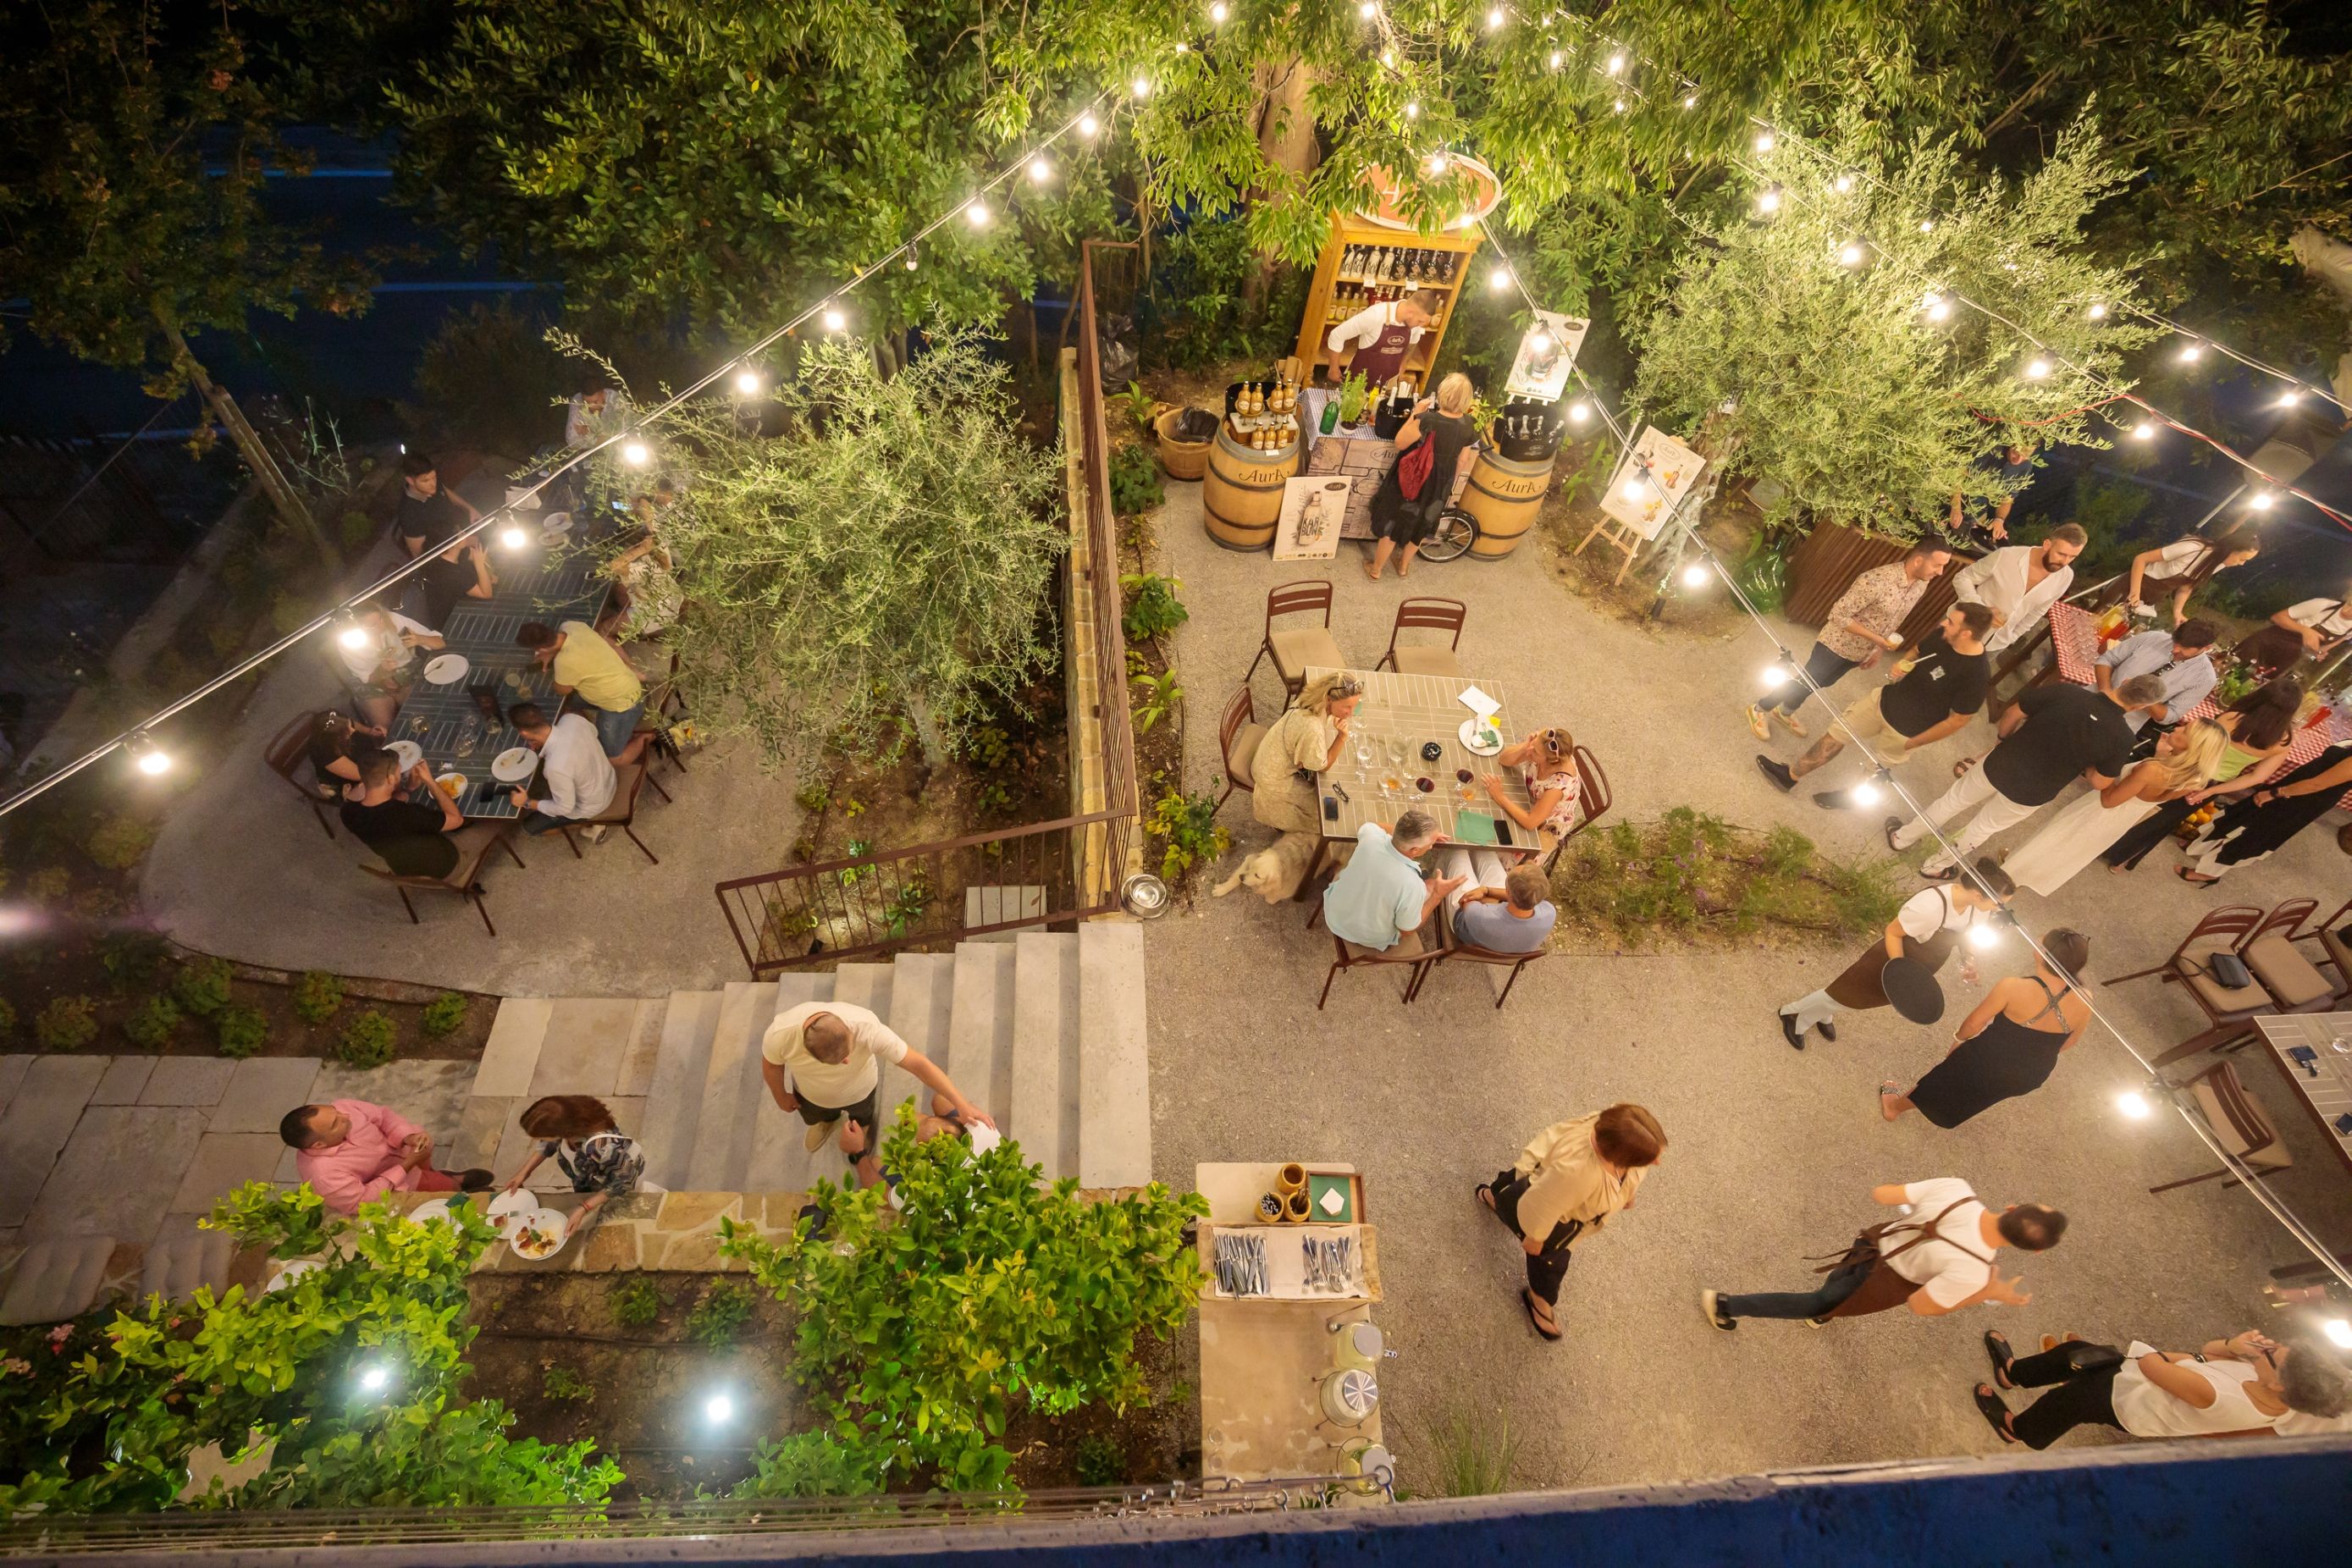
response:
[[[1936,1126],[1959,1126],[1987,1105],[2042,1088],[2058,1053],[2082,1037],[2091,1004],[2074,976],[2091,961],[2091,938],[2051,931],[2042,938],[2049,957],[2034,957],[2034,973],[2002,980],[1952,1037],[1952,1051],[1910,1093],[1896,1081],[1879,1084],[1879,1114],[1889,1121],[1915,1110]]]

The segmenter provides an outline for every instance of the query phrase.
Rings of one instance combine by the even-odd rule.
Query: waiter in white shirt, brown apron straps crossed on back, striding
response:
[[[1900,1208],[1900,1220],[1863,1229],[1816,1291],[1780,1295],[1722,1295],[1700,1291],[1698,1307],[1717,1328],[1738,1328],[1743,1316],[1802,1316],[1828,1328],[1832,1316],[1863,1316],[1910,1307],[1917,1316],[1943,1316],[1976,1302],[2032,1300],[2016,1279],[1992,1265],[2004,1246],[2042,1253],[2058,1246],[2065,1215],[2044,1204],[2011,1204],[1994,1213],[1969,1182],[1938,1175],[1924,1182],[1872,1187],[1870,1201]]]

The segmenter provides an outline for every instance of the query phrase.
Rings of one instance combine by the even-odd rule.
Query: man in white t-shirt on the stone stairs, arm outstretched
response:
[[[882,1180],[875,1117],[882,1067],[906,1067],[917,1084],[943,1095],[964,1126],[995,1126],[931,1058],[854,1001],[802,1001],[776,1013],[760,1039],[760,1077],[776,1105],[809,1124],[809,1152],[840,1135],[842,1154],[868,1185]]]

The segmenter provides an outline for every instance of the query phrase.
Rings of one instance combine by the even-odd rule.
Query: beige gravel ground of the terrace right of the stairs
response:
[[[1364,665],[1388,644],[1406,592],[1465,599],[1463,668],[1508,682],[1522,726],[1569,724],[1592,745],[1621,816],[1689,804],[1752,827],[1788,823],[1837,853],[1877,842],[1882,813],[1832,816],[1757,776],[1762,748],[1738,715],[1771,658],[1757,632],[1696,639],[1632,625],[1571,592],[1557,576],[1564,552],[1541,534],[1498,564],[1425,564],[1406,583],[1371,585],[1352,545],[1336,562],[1279,567],[1216,548],[1192,484],[1169,487],[1157,531],[1160,569],[1183,578],[1192,611],[1176,632],[1176,665],[1190,691],[1195,788],[1221,771],[1216,715],[1256,651],[1265,590],[1329,576],[1334,635]],[[1811,642],[1778,630],[1797,654]],[[1261,670],[1258,715],[1277,698]],[[1804,717],[1818,733],[1818,705]],[[1915,762],[1912,778],[1936,792],[1950,778],[1945,762],[1985,741],[1983,724],[1964,731]],[[1795,748],[1783,738],[1771,750]],[[1247,795],[1221,820],[1240,846],[1268,839]],[[2178,884],[2169,865],[2171,856],[2152,856],[2122,882],[2091,870],[2056,898],[2025,896],[2020,910],[2037,929],[2089,933],[2093,976],[2140,969],[2216,900]],[[2310,832],[2234,875],[2230,898],[2310,893],[2328,907],[2343,886],[2333,835]],[[1411,1011],[1397,1006],[1395,978],[1350,973],[1317,1013],[1329,938],[1303,931],[1303,905],[1237,893],[1197,896],[1150,926],[1155,1168],[1178,1185],[1209,1159],[1345,1159],[1367,1173],[1388,1286],[1374,1316],[1402,1345],[1383,1385],[1406,1486],[1428,1483],[1425,1434],[1449,1408],[1489,1427],[1510,1422],[1524,1443],[1522,1486],[1985,1453],[1994,1439],[1966,1396],[1985,1373],[1985,1328],[2020,1342],[2072,1328],[2194,1345],[2274,1326],[2260,1302],[2265,1269],[2298,1251],[2239,1190],[2147,1194],[2213,1161],[2178,1121],[2117,1117],[2112,1098],[2138,1072],[2112,1039],[2086,1039],[2046,1088],[1950,1133],[1917,1117],[1886,1126],[1879,1079],[1926,1070],[1945,1030],[1849,1016],[1835,1046],[1795,1056],[1773,1020],[1778,1001],[1844,966],[1844,947],[1555,952],[1501,1013],[1479,973],[1439,971]],[[2009,973],[2016,952],[1985,964],[1987,980]],[[1230,1004],[1237,973],[1256,978],[1247,1013]],[[1947,983],[1955,1009],[1980,994]],[[2100,987],[2100,1001],[2152,1048],[2201,1023],[2150,980]],[[2352,1182],[2288,1117],[2286,1086],[2258,1058],[2239,1063],[2296,1154],[2277,1190],[2333,1246],[2352,1246]],[[1639,1206],[1576,1248],[1559,1314],[1566,1340],[1545,1345],[1517,1302],[1517,1244],[1477,1211],[1470,1187],[1536,1128],[1613,1100],[1649,1105],[1672,1143]],[[1872,1185],[1929,1175],[2070,1211],[2074,1229],[2058,1251],[2006,1260],[2023,1272],[2030,1307],[1933,1321],[1886,1314],[1828,1333],[1748,1324],[1726,1335],[1700,1319],[1700,1286],[1804,1288],[1804,1255],[1842,1246],[1875,1218]]]

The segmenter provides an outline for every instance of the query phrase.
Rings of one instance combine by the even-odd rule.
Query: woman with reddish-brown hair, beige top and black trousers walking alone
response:
[[[1639,1105],[1611,1105],[1557,1121],[1519,1150],[1519,1159],[1472,1187],[1477,1201],[1519,1237],[1526,1286],[1519,1302],[1545,1340],[1559,1338],[1559,1281],[1569,1248],[1609,1215],[1632,1208],[1642,1178],[1665,1154],[1665,1128]]]

